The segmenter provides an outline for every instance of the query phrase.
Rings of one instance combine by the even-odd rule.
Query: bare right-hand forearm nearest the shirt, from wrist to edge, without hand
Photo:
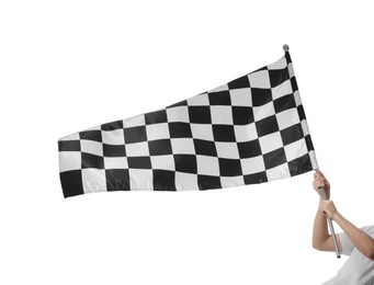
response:
[[[352,223],[345,219],[341,214],[336,213],[332,219],[341,227],[354,247],[360,250],[365,256],[374,259],[374,239],[364,231],[355,227]]]

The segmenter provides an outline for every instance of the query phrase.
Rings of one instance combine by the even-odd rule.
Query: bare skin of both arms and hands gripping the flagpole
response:
[[[319,187],[325,187],[326,195],[330,198],[330,183],[322,172],[318,171],[315,173],[313,186],[319,196]],[[319,198],[319,206],[313,226],[313,247],[315,249],[320,251],[335,251],[332,236],[329,235],[327,228],[327,217],[330,217],[340,226],[358,250],[366,258],[374,260],[374,239],[344,218],[338,212],[332,201],[322,201],[321,197]],[[341,252],[340,238],[337,238],[337,242],[339,251]]]

